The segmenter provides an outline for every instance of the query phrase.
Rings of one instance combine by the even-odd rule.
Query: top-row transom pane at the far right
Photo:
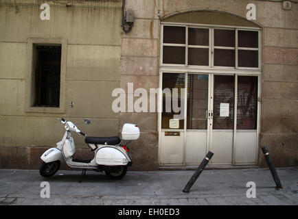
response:
[[[238,31],[238,47],[257,48],[259,37],[257,31]]]

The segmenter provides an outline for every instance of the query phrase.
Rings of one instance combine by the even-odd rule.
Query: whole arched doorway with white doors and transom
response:
[[[261,31],[224,12],[161,21],[160,87],[177,88],[183,109],[177,120],[165,112],[165,96],[159,99],[161,166],[197,165],[207,151],[210,165],[257,164]]]

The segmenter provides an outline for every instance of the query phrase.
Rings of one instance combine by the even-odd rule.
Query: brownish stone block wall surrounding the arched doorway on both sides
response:
[[[227,12],[245,18],[248,3],[256,5],[257,19],[254,23],[262,27],[263,101],[259,143],[268,147],[276,166],[295,166],[298,164],[297,1],[292,1],[291,10],[283,10],[282,1],[128,0],[126,8],[135,11],[135,23],[129,34],[122,34],[121,84],[126,86],[128,81],[133,81],[138,87],[159,86],[160,20],[196,10]],[[160,16],[157,16],[158,13]],[[128,114],[120,114],[120,120],[123,116]],[[146,136],[156,135],[157,115],[144,113],[132,116],[130,118],[134,118],[137,124],[144,123],[141,130],[146,133],[142,133],[140,143],[136,142],[142,145],[143,141],[148,141]],[[147,126],[149,120],[150,128]],[[150,149],[148,146],[133,149],[133,155],[137,156],[135,168],[147,167],[147,158],[157,157],[157,137],[150,144]],[[151,162],[152,168],[157,166],[156,162]],[[266,165],[261,151],[259,162],[260,166]]]

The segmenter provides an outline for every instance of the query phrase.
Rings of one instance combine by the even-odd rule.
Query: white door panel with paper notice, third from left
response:
[[[231,165],[235,106],[235,76],[214,75],[212,89],[212,123],[209,149],[214,153],[212,165]]]

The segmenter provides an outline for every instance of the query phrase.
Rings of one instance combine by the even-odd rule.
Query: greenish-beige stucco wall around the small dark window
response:
[[[16,3],[15,3],[16,2]],[[0,1],[0,166],[36,168],[39,157],[63,135],[56,118],[66,118],[89,136],[117,136],[119,114],[111,93],[119,88],[122,1],[45,1],[50,20],[42,21],[42,1]],[[73,1],[74,2],[74,1]],[[25,111],[28,38],[67,40],[65,113]],[[82,125],[91,118],[91,125]],[[87,146],[73,134],[78,156]],[[37,159],[37,160],[36,160]],[[25,161],[25,162],[24,162]]]

